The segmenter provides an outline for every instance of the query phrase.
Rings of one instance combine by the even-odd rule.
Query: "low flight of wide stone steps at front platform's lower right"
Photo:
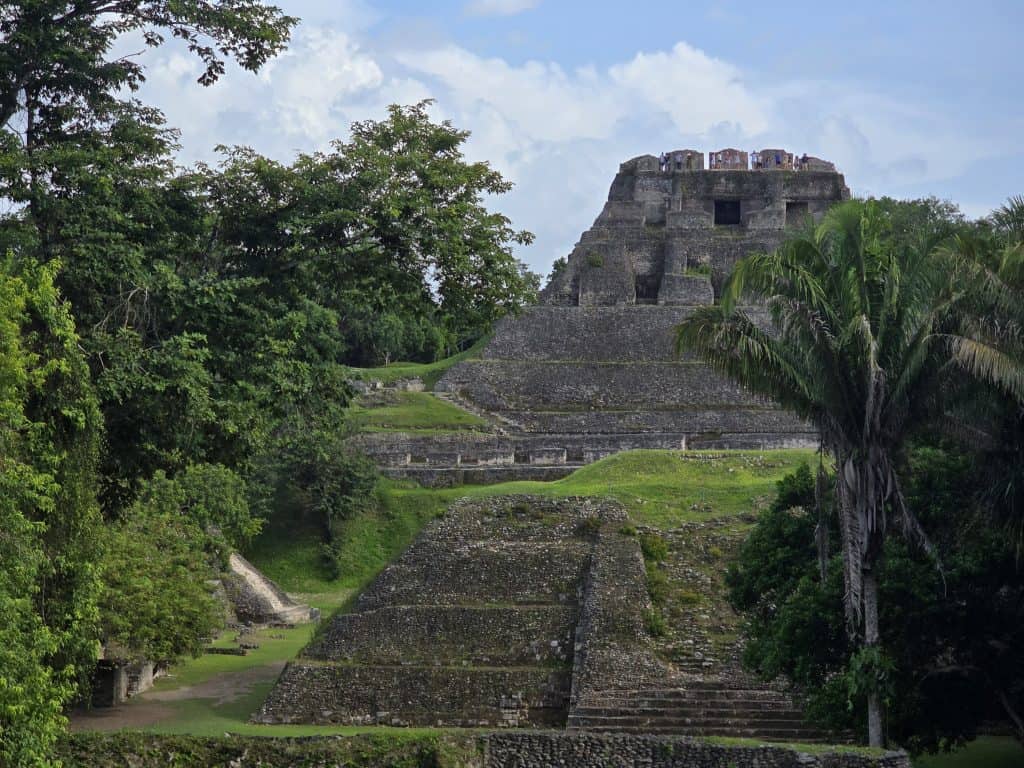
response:
[[[730,688],[714,681],[693,682],[685,688],[591,691],[586,705],[572,710],[568,727],[612,733],[834,740],[808,726],[785,693]]]

